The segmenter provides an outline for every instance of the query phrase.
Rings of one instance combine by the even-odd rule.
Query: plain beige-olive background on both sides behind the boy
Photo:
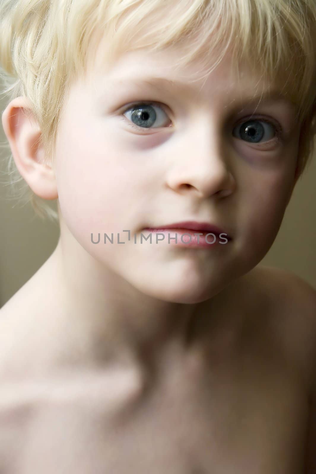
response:
[[[0,84],[1,86],[1,84]],[[5,104],[0,102],[0,116]],[[0,120],[0,140],[5,138]],[[0,149],[0,171],[5,151]],[[2,182],[1,177],[1,182]],[[261,264],[290,270],[316,288],[316,158],[297,182],[269,253]],[[59,227],[42,222],[30,205],[9,199],[0,184],[0,307],[37,271],[55,249]]]

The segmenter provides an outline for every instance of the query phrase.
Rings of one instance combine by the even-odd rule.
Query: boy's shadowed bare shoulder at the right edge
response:
[[[271,337],[310,387],[316,360],[315,288],[293,272],[269,266],[255,267],[249,281],[259,301],[264,295]]]

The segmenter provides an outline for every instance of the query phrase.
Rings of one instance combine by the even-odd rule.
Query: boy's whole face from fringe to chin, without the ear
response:
[[[107,72],[90,64],[86,83],[71,89],[54,167],[64,231],[141,292],[193,303],[269,250],[293,189],[300,130],[287,100],[248,101],[269,84],[246,69],[238,84],[229,58],[206,81],[190,83],[205,70],[195,62],[174,72],[179,55],[128,53]],[[149,77],[183,84],[141,82]],[[133,116],[143,101],[151,105]],[[279,123],[283,141],[267,120]],[[232,240],[190,248],[153,236],[140,244],[145,228],[187,220],[217,225]],[[94,241],[101,234],[99,244],[91,233]],[[104,244],[104,233],[113,233],[113,244]]]

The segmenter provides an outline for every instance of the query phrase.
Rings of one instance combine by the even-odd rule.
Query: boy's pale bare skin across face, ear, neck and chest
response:
[[[237,88],[229,59],[189,84],[201,66],[175,75],[178,55],[90,64],[52,167],[26,100],[2,115],[21,175],[58,198],[61,234],[0,311],[1,473],[316,472],[316,292],[258,266],[297,178],[293,104],[256,108],[266,85],[245,70]],[[136,87],[145,76],[183,85]],[[158,125],[129,127],[127,106],[144,100]],[[267,123],[260,145],[233,136],[251,114],[278,121],[283,141]],[[141,246],[122,232],[181,220],[232,241]],[[126,243],[93,245],[92,232]]]

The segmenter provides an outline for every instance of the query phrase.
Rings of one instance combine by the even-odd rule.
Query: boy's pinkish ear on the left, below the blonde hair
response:
[[[12,100],[2,114],[2,126],[21,176],[37,196],[58,198],[54,170],[44,164],[44,149],[37,142],[41,135],[28,101],[23,97]]]

